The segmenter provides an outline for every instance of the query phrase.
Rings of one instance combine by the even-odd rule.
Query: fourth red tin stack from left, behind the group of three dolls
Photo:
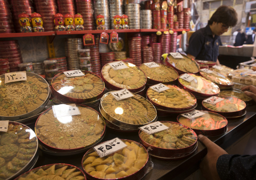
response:
[[[73,17],[76,14],[75,5],[73,0],[56,0],[58,13],[65,16],[71,14]]]

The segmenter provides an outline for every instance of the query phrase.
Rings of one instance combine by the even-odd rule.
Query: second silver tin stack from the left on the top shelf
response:
[[[119,16],[123,15],[122,0],[109,0],[109,13],[110,13],[111,30],[114,30],[113,17],[116,15],[119,15]]]

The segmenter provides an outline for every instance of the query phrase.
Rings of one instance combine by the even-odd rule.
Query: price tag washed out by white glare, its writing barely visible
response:
[[[81,114],[76,104],[59,104],[52,106],[54,117],[74,116]]]

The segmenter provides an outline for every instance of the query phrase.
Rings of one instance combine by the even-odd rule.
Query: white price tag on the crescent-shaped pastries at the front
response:
[[[112,140],[109,140],[109,141],[106,141],[104,143],[94,146],[93,149],[97,152],[97,154],[100,157],[104,157],[104,156],[106,156],[108,154],[112,154],[126,146],[127,145],[123,141],[121,141],[118,137],[116,137]]]

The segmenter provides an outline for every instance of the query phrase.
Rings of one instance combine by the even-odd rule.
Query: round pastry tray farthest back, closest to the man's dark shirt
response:
[[[196,74],[199,72],[200,67],[195,60],[185,55],[181,56],[183,58],[173,58],[172,55],[168,54],[165,64],[174,68],[179,75],[184,73]]]

